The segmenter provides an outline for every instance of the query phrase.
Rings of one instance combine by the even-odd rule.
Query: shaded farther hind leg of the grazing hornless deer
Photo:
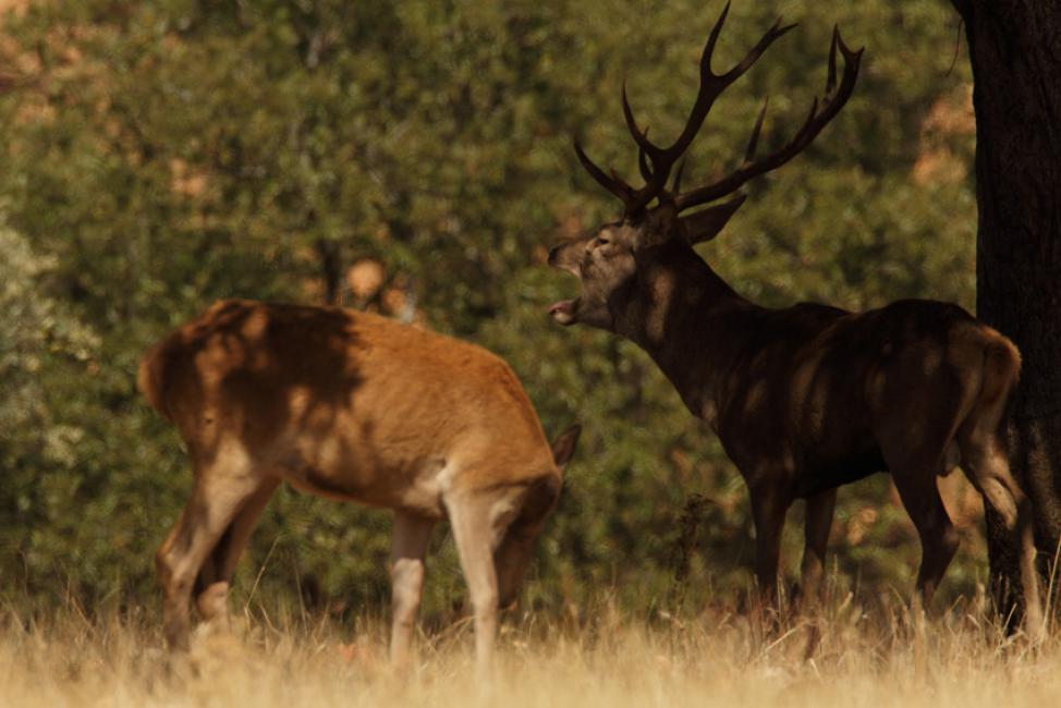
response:
[[[209,558],[199,569],[194,587],[195,605],[199,618],[208,623],[211,630],[228,632],[230,628],[229,584],[232,582],[240,554],[251,539],[254,525],[279,484],[279,479],[268,479],[261,484],[236,512],[235,517],[214,546]]]

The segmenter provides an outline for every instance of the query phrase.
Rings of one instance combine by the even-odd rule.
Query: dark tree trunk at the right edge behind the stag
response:
[[[954,5],[974,77],[976,307],[1023,355],[1010,464],[1035,503],[1045,569],[1061,539],[1061,2]],[[1016,552],[990,513],[987,533],[996,597],[1008,611]]]

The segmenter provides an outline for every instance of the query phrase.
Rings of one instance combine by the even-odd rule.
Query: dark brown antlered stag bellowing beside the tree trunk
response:
[[[1019,535],[1027,626],[1037,633],[1032,510],[999,436],[1021,366],[1013,343],[941,302],[906,300],[857,314],[818,304],[760,307],[693,249],[719,233],[744,196],[683,212],[733,194],[806,148],[850,98],[862,58],[834,29],[825,98],[814,101],[788,143],[756,159],[764,107],[739,169],[682,192],[679,167],[668,190],[672,168],[718,96],[791,28],[779,20],[739,64],[716,74],[711,53],[728,10],[711,29],[699,91],[672,145],[649,141],[623,89],[644,186],[606,173],[575,143],[582,164],[624,210],[621,219],[549,253],[550,265],[582,281],[581,297],[556,303],[550,313],[561,325],[589,325],[638,344],[690,412],[712,427],[748,486],[755,572],[764,591],[776,588],[781,529],[794,500],[807,500],[801,570],[810,593],[820,582],[836,488],[890,472],[920,537],[917,587],[927,607],[959,542],[936,477],[961,464],[985,502]],[[838,49],[844,62],[839,85]]]

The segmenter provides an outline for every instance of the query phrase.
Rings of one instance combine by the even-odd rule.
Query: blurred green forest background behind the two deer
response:
[[[329,300],[505,357],[550,435],[584,424],[524,607],[695,611],[751,584],[746,490],[632,344],[561,329],[576,292],[549,245],[612,218],[577,135],[636,174],[622,122],[680,130],[721,2],[2,0],[0,598],[155,607],[155,549],[191,476],[135,390],[141,354],[220,297]],[[767,305],[974,302],[971,76],[943,0],[734,3],[718,66],[779,13],[800,26],[719,100],[686,184],[741,159],[760,101],[779,144],[822,91],[833,23],[865,46],[854,97],[749,185],[705,257]],[[962,52],[956,56],[955,52]],[[941,481],[965,536],[943,587],[987,578],[979,498]],[[783,566],[797,567],[802,509]],[[387,513],[282,488],[236,601],[356,617],[388,603]],[[695,526],[695,528],[694,528]],[[694,533],[695,532],[695,533]],[[464,597],[448,530],[425,613]],[[841,591],[913,587],[916,534],[887,477],[841,490]],[[947,601],[946,599],[943,601]]]

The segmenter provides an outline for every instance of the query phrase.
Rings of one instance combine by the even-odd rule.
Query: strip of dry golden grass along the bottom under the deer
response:
[[[578,626],[525,615],[501,636],[492,689],[474,680],[469,627],[422,637],[419,663],[386,663],[379,622],[350,633],[266,619],[240,638],[197,637],[171,660],[153,620],[88,621],[75,610],[0,634],[0,706],[1048,706],[1061,698],[1061,646],[1007,639],[983,602],[920,630],[878,603],[836,602],[817,620],[765,630],[708,612],[684,623],[624,619],[607,603]],[[808,645],[815,634],[817,642]],[[809,646],[809,652],[808,652]]]

